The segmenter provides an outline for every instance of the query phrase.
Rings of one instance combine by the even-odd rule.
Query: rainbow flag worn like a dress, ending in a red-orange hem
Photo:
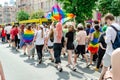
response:
[[[98,49],[99,49],[98,38],[100,36],[100,33],[94,32],[93,35],[94,35],[94,39],[88,45],[88,51],[90,51],[91,54],[96,54],[98,52]]]

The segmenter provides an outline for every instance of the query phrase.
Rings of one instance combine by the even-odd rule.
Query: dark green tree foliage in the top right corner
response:
[[[100,0],[98,8],[103,16],[106,13],[120,16],[120,0]]]

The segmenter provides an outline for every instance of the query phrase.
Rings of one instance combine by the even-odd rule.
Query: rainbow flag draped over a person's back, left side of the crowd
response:
[[[30,43],[33,41],[34,31],[33,30],[25,30],[23,35],[23,41],[25,43]]]

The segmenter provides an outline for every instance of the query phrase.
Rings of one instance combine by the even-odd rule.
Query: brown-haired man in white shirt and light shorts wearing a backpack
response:
[[[105,42],[107,44],[107,47],[106,47],[105,55],[103,57],[103,68],[102,68],[99,80],[102,80],[104,74],[106,73],[108,68],[111,66],[111,55],[114,50],[112,42],[115,41],[117,36],[117,33],[112,26],[114,26],[117,30],[120,30],[120,26],[117,23],[115,23],[115,18],[112,14],[107,14],[105,16],[105,22],[107,22],[107,26],[108,26],[106,30],[106,37],[105,37]]]

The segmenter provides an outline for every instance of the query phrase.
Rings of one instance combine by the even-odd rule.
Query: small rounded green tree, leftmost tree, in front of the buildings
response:
[[[18,21],[23,21],[23,20],[28,20],[28,19],[29,19],[29,14],[27,12],[21,10],[17,13]]]

